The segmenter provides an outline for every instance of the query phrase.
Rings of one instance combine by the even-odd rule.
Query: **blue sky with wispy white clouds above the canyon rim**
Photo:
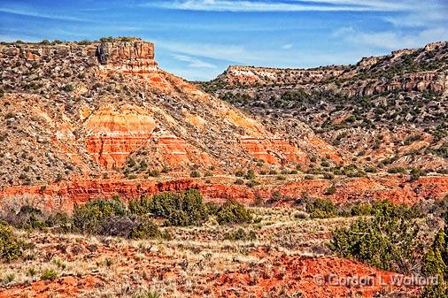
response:
[[[160,67],[211,80],[228,65],[306,68],[448,41],[448,0],[0,0],[0,41],[137,36]]]

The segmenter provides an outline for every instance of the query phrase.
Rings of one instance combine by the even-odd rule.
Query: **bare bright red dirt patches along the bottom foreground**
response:
[[[106,250],[101,249],[102,256],[115,254],[111,249]],[[135,251],[129,249],[127,256],[132,257],[134,254]],[[172,281],[182,279],[181,268],[174,265],[174,259],[147,255],[151,262],[141,270],[150,271],[154,274],[152,277],[158,276],[161,279]],[[420,287],[394,284],[394,278],[403,277],[402,275],[378,271],[351,260],[336,257],[281,256],[278,253],[271,256],[271,253],[268,255],[264,252],[260,252],[259,255],[263,261],[260,264],[242,264],[238,269],[205,275],[204,282],[211,286],[208,288],[212,288],[212,292],[204,294],[210,297],[266,297],[266,294],[268,297],[276,297],[285,293],[302,294],[301,297],[305,298],[336,298],[353,295],[373,297],[380,291],[394,290],[407,294],[418,294],[420,291]],[[167,268],[169,268],[168,271],[166,271]],[[117,279],[122,278],[117,277]],[[359,280],[362,282],[360,285],[357,284]],[[144,284],[147,282],[148,280],[143,280]],[[82,292],[90,292],[97,287],[111,286],[107,285],[106,280],[97,276],[83,278],[67,276],[55,281],[36,281],[30,285],[7,288],[0,293],[0,298],[19,296],[50,298],[54,294],[76,297]],[[178,290],[181,292],[182,287],[182,284],[178,284]]]

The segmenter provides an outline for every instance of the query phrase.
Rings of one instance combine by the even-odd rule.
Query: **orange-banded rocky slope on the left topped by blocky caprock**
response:
[[[0,64],[0,187],[340,161],[304,124],[266,128],[164,72],[151,42],[3,43]]]

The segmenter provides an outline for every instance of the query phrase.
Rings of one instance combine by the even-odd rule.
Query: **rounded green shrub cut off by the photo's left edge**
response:
[[[26,244],[14,235],[12,227],[0,221],[0,260],[9,262],[22,256],[26,247]]]

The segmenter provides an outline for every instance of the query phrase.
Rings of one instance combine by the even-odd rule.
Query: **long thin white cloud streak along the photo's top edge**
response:
[[[407,2],[414,2],[408,0]],[[142,6],[185,11],[402,11],[410,9],[405,4],[380,0],[296,0],[282,1],[232,1],[232,0],[177,0],[151,1]]]

